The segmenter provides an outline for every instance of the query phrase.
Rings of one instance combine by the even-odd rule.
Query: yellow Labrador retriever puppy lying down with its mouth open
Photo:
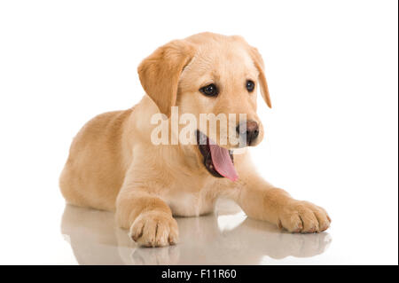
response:
[[[207,214],[220,197],[235,200],[247,216],[289,232],[329,227],[324,208],[294,200],[263,180],[237,143],[243,137],[245,146],[262,141],[258,86],[271,107],[262,57],[242,37],[201,33],[174,40],[137,70],[144,98],[128,110],[98,115],[74,138],[59,179],[68,203],[115,211],[117,223],[145,247],[176,244],[173,216]],[[175,107],[178,115],[173,117]],[[163,114],[170,139],[182,130],[182,124],[173,124],[184,114],[196,119],[200,114],[245,114],[246,119],[215,130],[195,126],[189,135],[194,142],[159,145],[153,142],[156,114]]]

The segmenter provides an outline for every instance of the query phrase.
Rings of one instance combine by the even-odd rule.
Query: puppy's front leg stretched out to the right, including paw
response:
[[[269,221],[289,232],[323,232],[331,223],[324,208],[309,201],[294,200],[255,175],[240,174],[236,201],[247,216]]]

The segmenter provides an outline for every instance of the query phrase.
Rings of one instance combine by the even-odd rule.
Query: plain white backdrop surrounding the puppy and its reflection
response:
[[[276,263],[398,263],[397,1],[1,1],[0,263],[76,263],[58,188],[74,134],[133,106],[137,65],[201,31],[261,51],[264,177],[325,207],[323,255]]]

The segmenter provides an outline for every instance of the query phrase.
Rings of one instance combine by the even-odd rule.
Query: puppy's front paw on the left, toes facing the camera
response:
[[[176,220],[165,212],[148,211],[131,225],[129,236],[145,247],[165,247],[177,243],[179,232]]]

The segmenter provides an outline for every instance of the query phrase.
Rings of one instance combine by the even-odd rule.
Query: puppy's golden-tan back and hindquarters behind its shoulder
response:
[[[122,129],[132,111],[99,114],[76,135],[59,178],[68,203],[114,210],[126,170],[121,156]]]

